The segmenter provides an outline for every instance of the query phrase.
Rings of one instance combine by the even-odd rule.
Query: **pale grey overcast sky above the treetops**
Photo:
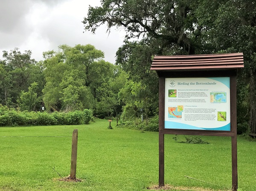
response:
[[[108,34],[106,26],[96,34],[84,32],[81,21],[89,5],[100,6],[100,0],[0,0],[0,59],[3,50],[15,47],[31,50],[39,61],[44,51],[57,51],[61,44],[92,44],[105,53],[104,60],[115,63],[125,33],[111,29]]]

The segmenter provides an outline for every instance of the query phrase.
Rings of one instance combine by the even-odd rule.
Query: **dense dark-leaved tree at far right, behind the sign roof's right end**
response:
[[[253,0],[225,0],[221,3],[204,0],[201,2],[204,3],[201,3],[198,8],[197,17],[204,29],[203,40],[212,46],[214,52],[243,52],[244,54],[245,68],[239,75],[239,80],[243,80],[243,83],[238,84],[249,87],[247,104],[250,105],[249,125],[251,133],[256,133],[256,3]],[[214,14],[209,12],[206,14],[209,9]],[[242,99],[247,100],[245,94]],[[239,100],[238,103],[243,102]]]

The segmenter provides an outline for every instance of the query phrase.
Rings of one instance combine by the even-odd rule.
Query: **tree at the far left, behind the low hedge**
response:
[[[31,58],[32,51],[28,50],[21,53],[19,48],[14,48],[10,52],[3,51],[2,66],[8,73],[11,81],[6,82],[6,87],[3,93],[6,100],[11,100],[12,103],[17,103],[17,98],[21,91],[28,91],[29,86],[38,82],[37,94],[41,95],[41,90],[44,86],[43,67]],[[6,80],[9,79],[6,77]],[[7,97],[8,96],[8,97]],[[10,104],[5,101],[4,104]]]

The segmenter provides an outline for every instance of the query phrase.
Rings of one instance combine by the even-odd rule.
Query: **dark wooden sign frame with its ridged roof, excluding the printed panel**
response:
[[[237,191],[236,76],[243,63],[242,53],[154,57],[151,70],[159,77],[159,187],[164,185],[164,134],[223,136],[231,137],[232,191]],[[192,77],[230,78],[230,131],[165,128],[166,78]]]

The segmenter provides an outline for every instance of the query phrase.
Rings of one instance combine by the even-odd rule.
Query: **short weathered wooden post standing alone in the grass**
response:
[[[72,134],[72,151],[71,151],[71,168],[70,168],[71,179],[76,179],[77,136],[78,136],[78,129],[74,129]]]

